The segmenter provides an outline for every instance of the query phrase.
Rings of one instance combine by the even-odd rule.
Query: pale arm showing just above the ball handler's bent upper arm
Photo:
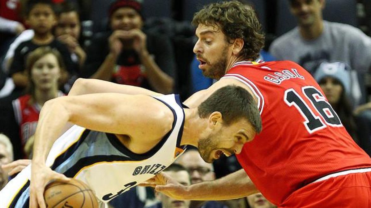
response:
[[[131,85],[116,84],[109,81],[97,79],[84,79],[78,78],[68,93],[68,95],[83,95],[92,93],[121,93],[131,95],[151,95],[160,96],[162,94],[155,93],[154,91],[147,90],[141,87]]]

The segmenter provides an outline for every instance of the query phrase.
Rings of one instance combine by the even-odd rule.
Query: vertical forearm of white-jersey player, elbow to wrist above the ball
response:
[[[45,165],[53,143],[58,139],[69,120],[68,111],[58,98],[47,101],[40,111],[33,146],[33,165]]]

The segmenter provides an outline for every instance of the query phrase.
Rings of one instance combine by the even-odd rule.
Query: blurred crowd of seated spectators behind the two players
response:
[[[241,1],[256,10],[265,31],[260,59],[292,60],[308,70],[349,134],[371,155],[371,1]],[[191,21],[195,12],[215,2],[1,0],[1,164],[32,158],[42,105],[67,95],[80,77],[178,93],[183,100],[209,87],[216,80],[203,77],[198,69]],[[179,167],[167,171],[176,177],[184,171],[190,178],[187,184],[241,168],[235,157],[210,165],[195,152],[186,152],[182,157],[190,157],[185,160],[189,162],[182,159]],[[0,173],[4,185],[9,176]],[[225,202],[185,202],[143,187],[120,195],[111,206],[274,207],[261,194]]]

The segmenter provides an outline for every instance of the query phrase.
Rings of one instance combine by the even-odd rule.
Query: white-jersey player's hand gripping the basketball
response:
[[[45,164],[31,165],[30,181],[30,208],[46,208],[44,201],[45,186],[49,181],[59,180],[69,182],[70,179],[63,174],[52,171]]]

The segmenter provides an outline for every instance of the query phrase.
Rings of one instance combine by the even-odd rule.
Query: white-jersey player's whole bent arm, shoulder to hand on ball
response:
[[[143,111],[151,109],[151,112]],[[47,101],[39,117],[35,133],[30,183],[30,207],[45,208],[44,187],[50,180],[68,181],[64,175],[46,167],[46,157],[65,125],[114,134],[128,135],[157,142],[171,129],[171,110],[146,95],[117,93],[63,96]],[[122,119],[129,118],[129,119]]]

